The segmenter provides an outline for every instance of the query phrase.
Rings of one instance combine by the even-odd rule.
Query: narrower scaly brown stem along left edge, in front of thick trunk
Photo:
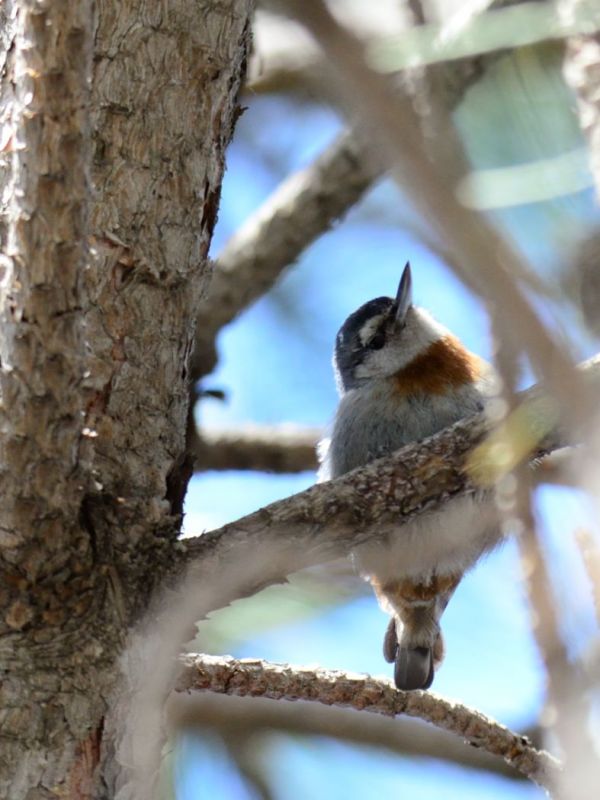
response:
[[[106,606],[94,607],[104,581],[78,520],[89,478],[83,268],[91,3],[21,2],[7,9],[7,22],[0,796],[33,798],[69,783],[78,742],[99,717],[85,660],[90,646],[97,662],[113,646],[111,628],[102,630]]]

